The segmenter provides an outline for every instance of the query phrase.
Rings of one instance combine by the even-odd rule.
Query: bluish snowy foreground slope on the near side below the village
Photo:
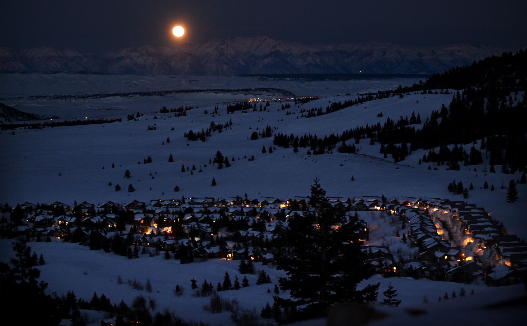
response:
[[[57,240],[60,241],[60,240]],[[140,255],[139,259],[127,259],[126,257],[116,256],[112,253],[103,251],[91,251],[88,247],[79,246],[76,243],[63,242],[31,242],[29,243],[33,251],[37,254],[42,253],[46,259],[46,264],[39,266],[42,271],[41,279],[48,282],[47,292],[57,292],[64,294],[74,290],[77,298],[89,300],[93,292],[98,295],[102,293],[110,298],[112,302],[124,300],[131,304],[131,301],[140,294],[151,297],[157,301],[157,310],[169,309],[174,311],[179,317],[185,320],[201,320],[209,322],[211,325],[230,325],[230,313],[222,312],[212,314],[204,311],[202,306],[209,302],[208,297],[196,298],[192,296],[190,280],[192,278],[201,284],[204,279],[216,284],[222,281],[223,274],[227,271],[231,278],[238,274],[237,260],[209,259],[202,263],[179,264],[175,260],[164,260],[161,256],[148,257]],[[13,251],[10,240],[0,240],[0,261],[7,261],[12,257]],[[222,291],[220,295],[224,298],[238,299],[241,308],[261,309],[267,302],[272,303],[272,288],[277,283],[278,278],[284,276],[282,271],[262,266],[255,263],[256,270],[264,269],[270,274],[272,283],[256,285],[256,275],[244,274],[249,279],[250,286],[240,290]],[[120,275],[124,282],[134,279],[144,282],[150,279],[152,283],[152,293],[134,290],[128,284],[118,284],[117,276]],[[488,312],[482,309],[487,304],[499,302],[506,299],[516,298],[522,295],[523,286],[508,286],[489,288],[485,284],[460,284],[453,282],[437,282],[426,279],[414,280],[412,278],[383,278],[374,276],[364,280],[359,284],[359,288],[367,284],[380,282],[379,291],[382,292],[391,283],[398,292],[398,299],[402,301],[398,309],[387,309],[381,305],[375,305],[377,309],[386,311],[391,315],[390,323],[395,324],[415,324],[424,322],[426,324],[439,324],[437,322],[437,311],[456,311],[458,309],[470,310],[470,316],[466,320],[477,322],[481,325],[495,324],[497,320],[503,318],[501,315]],[[90,286],[86,286],[89,283]],[[175,284],[185,288],[181,297],[173,294]],[[445,292],[452,291],[459,293],[461,288],[467,292],[466,297],[443,300],[437,302],[437,298],[443,296]],[[271,293],[267,292],[271,290]],[[471,295],[471,291],[474,294]],[[280,293],[281,297],[287,298],[286,293]],[[424,296],[428,298],[428,303],[423,303]],[[382,294],[379,298],[382,298]],[[421,309],[426,312],[424,315],[412,316],[404,312],[405,309]],[[518,324],[521,310],[512,307],[508,311],[511,324]],[[463,315],[463,313],[461,313]],[[469,318],[470,317],[470,318]],[[444,322],[448,317],[444,315],[441,320]],[[463,318],[463,316],[461,317]],[[457,320],[457,317],[456,317]],[[465,320],[463,318],[463,320]],[[516,321],[516,322],[515,322]],[[374,324],[385,324],[385,320],[380,320]],[[323,320],[307,321],[298,324],[325,324]]]

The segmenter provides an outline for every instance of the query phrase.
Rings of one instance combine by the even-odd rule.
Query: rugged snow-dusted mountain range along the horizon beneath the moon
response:
[[[236,37],[178,46],[140,46],[106,55],[72,49],[0,48],[2,73],[103,73],[132,75],[241,75],[436,73],[470,65],[504,49],[455,44],[435,47],[392,43],[298,43],[268,36]]]

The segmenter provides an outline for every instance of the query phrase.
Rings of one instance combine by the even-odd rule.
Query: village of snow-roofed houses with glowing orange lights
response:
[[[390,217],[392,222],[384,227],[395,225],[392,238],[397,246],[392,246],[385,239],[380,243],[370,237],[374,230],[359,219],[363,226],[359,241],[372,273],[489,286],[525,280],[527,244],[509,235],[503,223],[482,207],[439,198],[327,198],[347,219],[372,212],[380,218]],[[308,200],[249,199],[246,195],[147,203],[133,200],[122,205],[112,201],[72,206],[58,201],[51,205],[24,202],[4,207],[0,234],[27,241],[79,242],[130,259],[161,254],[180,263],[223,258],[272,266],[276,254],[284,254],[280,249],[288,219],[309,211]],[[401,246],[411,254],[403,257]]]

